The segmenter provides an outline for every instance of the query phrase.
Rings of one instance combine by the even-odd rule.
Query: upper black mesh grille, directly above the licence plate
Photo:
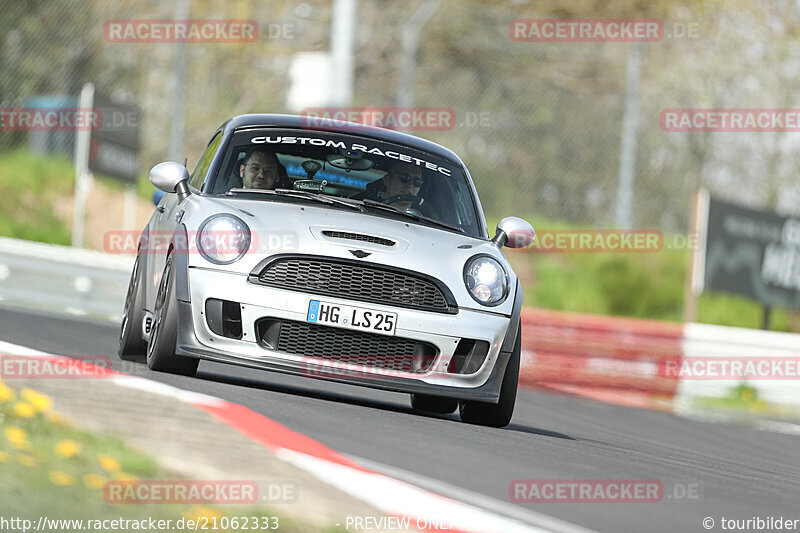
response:
[[[435,283],[370,265],[287,257],[273,261],[258,275],[265,285],[424,311],[455,312]]]

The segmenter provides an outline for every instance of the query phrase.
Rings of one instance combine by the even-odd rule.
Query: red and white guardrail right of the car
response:
[[[524,386],[686,411],[744,385],[765,402],[800,405],[800,379],[787,375],[800,371],[798,334],[543,309],[524,309],[522,324]],[[748,363],[763,373],[720,374]]]

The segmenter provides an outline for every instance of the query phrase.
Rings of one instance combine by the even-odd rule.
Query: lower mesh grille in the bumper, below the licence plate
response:
[[[438,353],[432,344],[412,339],[277,318],[261,319],[256,331],[269,350],[395,372],[427,372]]]

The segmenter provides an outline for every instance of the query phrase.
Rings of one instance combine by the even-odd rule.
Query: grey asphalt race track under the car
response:
[[[245,405],[428,488],[535,523],[602,532],[707,531],[720,519],[800,519],[800,437],[521,390],[512,424],[412,412],[406,395],[203,362],[197,378],[116,357],[117,327],[0,310],[0,340],[63,355],[108,355],[128,373]],[[375,464],[371,467],[379,469]],[[516,479],[660,480],[660,503],[518,504]],[[690,498],[684,493],[691,491]],[[530,511],[533,511],[531,513]]]

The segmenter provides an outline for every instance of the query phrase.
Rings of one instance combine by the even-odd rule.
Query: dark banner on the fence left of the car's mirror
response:
[[[139,110],[95,97],[100,127],[89,143],[89,169],[126,183],[139,173]]]

